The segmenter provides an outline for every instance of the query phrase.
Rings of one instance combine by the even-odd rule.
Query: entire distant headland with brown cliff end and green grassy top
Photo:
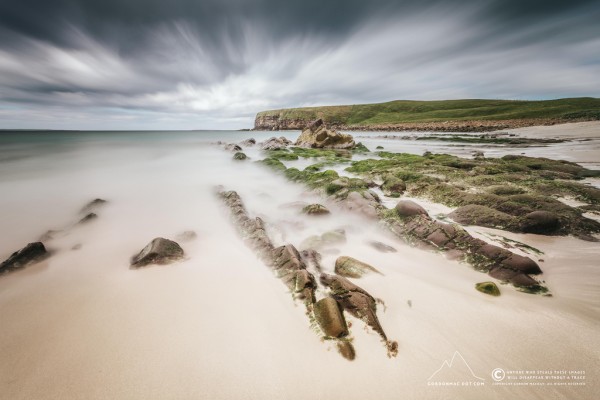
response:
[[[303,130],[318,119],[334,130],[484,132],[600,120],[600,99],[396,100],[288,108],[258,113],[254,130]]]

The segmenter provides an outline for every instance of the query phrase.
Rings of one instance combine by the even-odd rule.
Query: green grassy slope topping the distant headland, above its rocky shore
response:
[[[469,120],[564,119],[600,120],[600,99],[581,97],[545,101],[397,100],[379,104],[290,108],[263,111],[261,118],[279,121],[317,118],[346,126]]]

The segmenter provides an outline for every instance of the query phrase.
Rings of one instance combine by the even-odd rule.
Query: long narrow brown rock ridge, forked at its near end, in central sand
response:
[[[244,242],[265,265],[271,267],[292,297],[303,302],[313,327],[324,339],[335,341],[336,348],[344,358],[353,360],[356,356],[344,311],[377,332],[385,343],[388,356],[396,356],[398,344],[388,340],[379,323],[373,296],[341,276],[321,273],[321,257],[317,251],[300,253],[293,244],[275,247],[266,232],[264,221],[249,216],[237,192],[219,190],[218,196],[229,209],[231,221]],[[313,273],[320,275],[318,282]],[[317,298],[319,283],[329,289],[329,295],[321,299]]]

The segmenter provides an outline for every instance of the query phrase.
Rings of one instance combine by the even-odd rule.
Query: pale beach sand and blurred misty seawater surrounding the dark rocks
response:
[[[363,142],[416,154],[482,150],[600,165],[599,122],[511,132],[577,141],[524,148]],[[249,135],[262,141],[271,132],[50,134],[66,136],[52,148],[43,134],[28,137],[39,147],[7,139],[1,151],[0,258],[60,230],[45,243],[51,257],[0,276],[1,398],[591,399],[597,392],[597,242],[467,227],[490,243],[502,236],[541,251],[521,254],[539,262],[552,297],[510,285],[491,297],[474,289],[487,275],[408,246],[376,221],[334,203],[326,203],[325,218],[299,214],[290,203],[326,200],[261,165],[240,164],[214,144]],[[244,151],[261,158],[257,147]],[[340,255],[376,266],[381,274],[356,283],[383,300],[377,314],[398,342],[397,357],[389,358],[378,335],[350,315],[354,361],[315,334],[304,307],[235,232],[214,194],[217,185],[236,190],[277,245],[299,246],[343,229],[346,243],[324,252],[322,267],[332,273]],[[81,207],[97,197],[107,200],[98,218],[77,224]],[[389,206],[397,200],[383,197]],[[413,200],[431,215],[451,211]],[[154,237],[175,239],[187,230],[197,238],[179,240],[184,260],[129,268],[130,257]],[[373,240],[397,252],[381,253],[368,244]],[[498,368],[515,380],[495,380]],[[535,385],[548,379],[532,375],[579,379]]]

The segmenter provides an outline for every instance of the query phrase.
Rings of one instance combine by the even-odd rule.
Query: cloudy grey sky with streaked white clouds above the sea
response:
[[[240,129],[262,110],[600,97],[597,0],[0,0],[0,129]]]

